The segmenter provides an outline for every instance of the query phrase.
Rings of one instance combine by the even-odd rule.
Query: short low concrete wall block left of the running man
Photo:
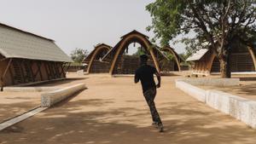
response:
[[[55,103],[67,99],[69,96],[85,89],[85,84],[76,84],[67,88],[57,89],[41,95],[41,107],[51,107]]]

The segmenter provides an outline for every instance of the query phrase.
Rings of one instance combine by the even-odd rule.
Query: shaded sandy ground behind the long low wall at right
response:
[[[253,101],[256,101],[256,76],[234,76],[232,78],[240,78],[239,86],[218,87],[218,86],[200,86],[202,89],[216,89],[238,95]]]

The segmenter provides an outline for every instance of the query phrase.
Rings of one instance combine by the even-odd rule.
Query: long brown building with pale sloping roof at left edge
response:
[[[0,86],[66,78],[72,60],[49,38],[0,23]]]

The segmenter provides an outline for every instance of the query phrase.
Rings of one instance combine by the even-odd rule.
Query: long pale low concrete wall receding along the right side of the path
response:
[[[218,90],[204,90],[177,80],[176,87],[208,106],[237,118],[256,129],[256,101],[250,101],[236,95]]]

